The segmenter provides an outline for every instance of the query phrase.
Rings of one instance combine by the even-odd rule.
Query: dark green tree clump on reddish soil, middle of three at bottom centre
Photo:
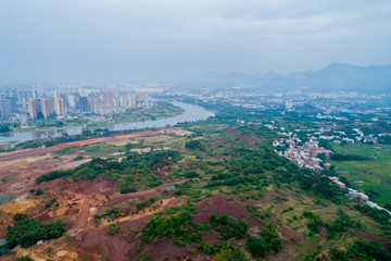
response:
[[[238,220],[228,215],[211,214],[211,224],[216,232],[218,232],[223,239],[236,238],[241,239],[245,236],[249,229],[249,224],[245,221]]]

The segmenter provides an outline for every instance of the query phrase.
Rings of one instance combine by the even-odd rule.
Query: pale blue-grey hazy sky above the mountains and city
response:
[[[391,1],[2,0],[0,82],[391,64]]]

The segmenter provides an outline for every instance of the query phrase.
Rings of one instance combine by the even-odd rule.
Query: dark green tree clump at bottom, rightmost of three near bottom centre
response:
[[[258,237],[248,236],[247,246],[254,258],[263,258],[270,250],[278,252],[282,248],[282,241],[277,234],[276,226],[268,224],[260,232]]]

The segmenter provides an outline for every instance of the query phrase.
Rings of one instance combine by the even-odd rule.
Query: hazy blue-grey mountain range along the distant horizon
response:
[[[305,71],[291,74],[244,74],[209,73],[192,78],[191,83],[181,83],[188,87],[210,87],[229,89],[249,87],[275,91],[357,91],[370,94],[391,92],[391,65],[355,66],[332,63],[318,71]]]

